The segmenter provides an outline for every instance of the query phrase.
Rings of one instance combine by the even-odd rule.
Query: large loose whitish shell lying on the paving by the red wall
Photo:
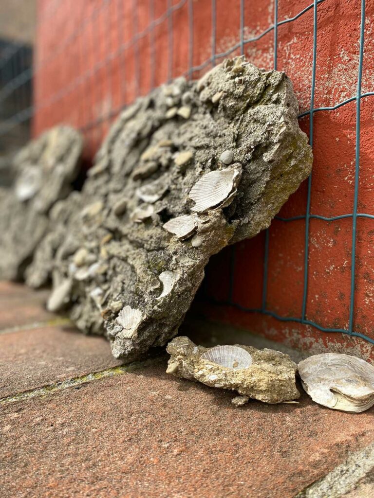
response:
[[[314,355],[298,365],[306,392],[335,410],[361,412],[374,404],[374,367],[349,355]]]

